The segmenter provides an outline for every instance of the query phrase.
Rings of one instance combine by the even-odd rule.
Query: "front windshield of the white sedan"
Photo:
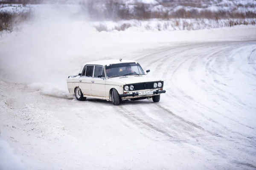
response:
[[[105,68],[107,77],[145,74],[141,66],[135,62],[111,64],[106,65]]]

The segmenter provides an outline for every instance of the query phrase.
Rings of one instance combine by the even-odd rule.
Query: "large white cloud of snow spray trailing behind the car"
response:
[[[84,50],[95,32],[76,5],[41,5],[32,20],[20,30],[2,35],[0,40],[0,77],[9,82],[51,82],[55,86],[70,74],[73,58]]]

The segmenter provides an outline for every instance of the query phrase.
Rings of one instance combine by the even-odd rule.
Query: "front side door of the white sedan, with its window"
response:
[[[105,71],[102,65],[95,65],[91,82],[92,95],[105,97]]]

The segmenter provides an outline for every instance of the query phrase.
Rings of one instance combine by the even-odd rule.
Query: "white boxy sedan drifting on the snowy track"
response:
[[[146,98],[159,102],[160,94],[166,92],[161,79],[147,77],[138,62],[122,59],[85,63],[78,75],[68,77],[67,87],[78,100],[92,97],[112,101],[113,105]]]

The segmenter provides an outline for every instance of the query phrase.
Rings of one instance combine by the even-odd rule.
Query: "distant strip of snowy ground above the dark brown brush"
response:
[[[1,2],[1,1],[0,1]],[[42,1],[45,3],[53,3],[51,0]],[[55,1],[58,2],[58,1]],[[84,1],[66,1],[70,4],[81,3]],[[103,1],[98,1],[100,3]],[[115,1],[113,1],[115,2]],[[256,12],[255,0],[203,0],[203,1],[191,1],[191,0],[117,0],[118,3],[128,6],[129,10],[134,10],[137,3],[144,3],[151,11],[177,11],[184,9],[186,11],[192,10],[209,10],[209,11],[233,11],[233,12]],[[59,1],[61,3],[61,1]],[[95,2],[97,3],[97,1]],[[0,4],[0,11],[27,11],[30,8],[38,7],[38,4]],[[104,8],[104,6],[99,6]]]

